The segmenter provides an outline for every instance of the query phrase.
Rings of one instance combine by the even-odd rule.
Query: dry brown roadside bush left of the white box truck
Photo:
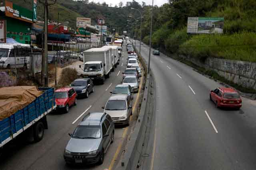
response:
[[[68,86],[76,80],[76,78],[79,78],[77,74],[78,72],[75,68],[64,68],[61,72],[61,77],[56,88]]]

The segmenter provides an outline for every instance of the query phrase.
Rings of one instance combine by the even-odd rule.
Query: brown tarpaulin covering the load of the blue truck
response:
[[[0,121],[28,106],[42,93],[36,86],[0,88]]]

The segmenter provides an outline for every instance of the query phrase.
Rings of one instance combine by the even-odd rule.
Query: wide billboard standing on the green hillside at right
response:
[[[223,17],[188,17],[187,33],[223,33]]]

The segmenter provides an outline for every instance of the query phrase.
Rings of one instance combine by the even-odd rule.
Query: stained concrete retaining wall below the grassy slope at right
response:
[[[202,62],[189,56],[180,55],[179,57],[206,69],[214,70],[226,80],[242,87],[256,90],[256,63],[210,57]]]

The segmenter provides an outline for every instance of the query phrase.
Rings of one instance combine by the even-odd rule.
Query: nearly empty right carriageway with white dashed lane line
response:
[[[139,49],[139,41],[136,43]],[[148,61],[149,47],[141,55]],[[256,102],[218,109],[210,90],[222,85],[160,53],[151,55],[156,112],[144,170],[256,169]]]

